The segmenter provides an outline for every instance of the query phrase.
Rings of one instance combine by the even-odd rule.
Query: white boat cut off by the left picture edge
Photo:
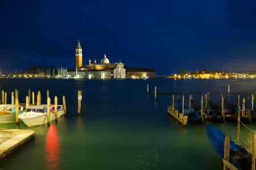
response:
[[[19,114],[24,112],[24,106],[19,105]],[[16,120],[15,104],[0,105],[0,123],[11,123]]]

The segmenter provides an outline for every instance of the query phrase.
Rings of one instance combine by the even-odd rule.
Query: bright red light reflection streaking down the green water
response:
[[[59,169],[58,164],[61,162],[60,139],[54,125],[48,128],[45,149],[46,169]]]

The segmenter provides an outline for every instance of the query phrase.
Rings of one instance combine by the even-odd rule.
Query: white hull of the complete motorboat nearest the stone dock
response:
[[[63,116],[64,110],[58,111],[57,114],[58,114],[58,118]],[[20,117],[20,120],[22,120],[24,124],[27,125],[28,127],[43,125],[43,124],[47,124],[47,114],[39,117],[32,117],[32,118]],[[50,114],[50,122],[53,120],[55,120],[55,113]]]

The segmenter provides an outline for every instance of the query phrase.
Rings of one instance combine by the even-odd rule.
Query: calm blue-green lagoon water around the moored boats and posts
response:
[[[146,94],[146,84],[150,94]],[[0,79],[1,90],[19,91],[25,101],[28,88],[46,91],[61,99],[66,96],[67,118],[59,122],[27,128],[22,122],[1,124],[0,128],[31,129],[36,137],[13,154],[1,160],[2,169],[222,169],[222,164],[207,138],[204,125],[189,124],[183,128],[167,114],[171,95],[159,92],[209,92],[221,103],[221,93],[237,103],[232,92],[256,91],[256,79],[174,80],[74,80],[74,79]],[[82,113],[77,116],[77,91],[82,90]],[[176,95],[175,95],[176,97]],[[180,95],[181,97],[181,95]],[[193,94],[200,103],[201,94]],[[250,107],[248,94],[246,106]],[[250,96],[249,96],[250,97]],[[188,103],[188,95],[185,95]],[[61,101],[62,103],[62,101]],[[236,139],[236,124],[217,124],[218,128]],[[248,125],[256,129],[255,125]],[[250,131],[241,126],[241,143],[250,149]]]

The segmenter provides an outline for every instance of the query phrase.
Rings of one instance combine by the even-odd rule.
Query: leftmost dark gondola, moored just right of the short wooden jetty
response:
[[[199,112],[201,115],[201,105],[197,104],[193,99],[191,100],[191,107],[195,109],[195,111]],[[223,123],[224,119],[221,116],[218,116],[214,112],[209,109],[203,108],[204,115],[206,115],[207,122],[212,123]]]

